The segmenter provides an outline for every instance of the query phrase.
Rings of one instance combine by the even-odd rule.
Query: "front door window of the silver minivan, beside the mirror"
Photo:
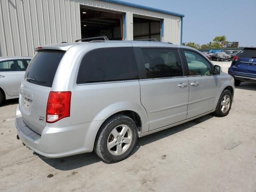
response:
[[[188,50],[184,50],[184,53],[188,63],[190,76],[212,74],[211,64],[207,62],[203,56]]]

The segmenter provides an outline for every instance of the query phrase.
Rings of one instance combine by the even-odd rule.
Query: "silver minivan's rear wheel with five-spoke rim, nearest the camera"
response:
[[[135,147],[138,131],[128,116],[117,115],[107,120],[95,140],[94,151],[109,163],[124,160]]]

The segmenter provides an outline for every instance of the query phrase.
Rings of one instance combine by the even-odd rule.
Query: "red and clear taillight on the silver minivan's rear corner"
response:
[[[46,108],[46,122],[54,123],[70,116],[71,92],[50,92]]]

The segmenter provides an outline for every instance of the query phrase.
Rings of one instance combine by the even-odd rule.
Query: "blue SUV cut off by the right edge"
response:
[[[242,81],[256,83],[256,47],[246,47],[234,56],[228,74],[234,77],[235,86]]]

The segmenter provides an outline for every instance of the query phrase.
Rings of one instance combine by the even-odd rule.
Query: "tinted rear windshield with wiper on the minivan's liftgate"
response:
[[[26,74],[26,81],[46,87],[52,82],[64,51],[41,50],[31,60]]]

